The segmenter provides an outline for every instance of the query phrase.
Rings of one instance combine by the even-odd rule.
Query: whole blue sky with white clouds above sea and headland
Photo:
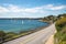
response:
[[[66,0],[0,0],[0,18],[43,18],[66,13]]]

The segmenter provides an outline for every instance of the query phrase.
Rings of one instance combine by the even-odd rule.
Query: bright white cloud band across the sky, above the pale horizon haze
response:
[[[6,4],[7,6],[7,4]],[[1,12],[29,12],[29,13],[43,13],[45,10],[62,10],[65,9],[66,6],[53,6],[53,4],[46,4],[42,7],[35,7],[35,8],[20,8],[18,6],[8,4],[7,8],[0,6],[0,13]]]

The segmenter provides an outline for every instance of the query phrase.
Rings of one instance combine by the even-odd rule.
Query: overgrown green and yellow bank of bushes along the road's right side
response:
[[[66,18],[56,21],[55,44],[66,44]]]

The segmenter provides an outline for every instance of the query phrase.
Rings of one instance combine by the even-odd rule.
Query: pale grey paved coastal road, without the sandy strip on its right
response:
[[[55,24],[52,24],[46,29],[43,29],[26,36],[15,38],[13,41],[6,42],[3,44],[44,44],[47,38],[54,33]]]

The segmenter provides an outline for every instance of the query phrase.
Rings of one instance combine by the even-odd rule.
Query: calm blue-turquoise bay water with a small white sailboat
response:
[[[48,25],[46,22],[37,20],[0,19],[0,31],[4,32],[29,31],[46,25]]]

